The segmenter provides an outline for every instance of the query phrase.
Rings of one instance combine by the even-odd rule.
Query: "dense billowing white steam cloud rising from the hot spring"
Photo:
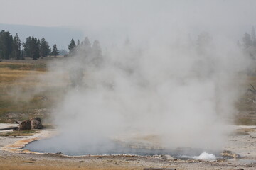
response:
[[[134,133],[154,135],[164,148],[223,147],[247,60],[225,35],[191,37],[193,29],[175,22],[133,27],[131,42],[102,48],[100,65],[80,50],[51,63],[50,71],[64,77],[74,68],[82,69],[84,77],[80,87],[67,87],[53,113],[60,135],[41,147],[105,152],[113,149],[113,138]]]

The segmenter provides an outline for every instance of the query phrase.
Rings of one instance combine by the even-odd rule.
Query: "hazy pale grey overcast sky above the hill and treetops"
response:
[[[0,23],[74,26],[94,34],[190,26],[232,32],[230,26],[255,25],[255,7],[255,0],[0,0]]]

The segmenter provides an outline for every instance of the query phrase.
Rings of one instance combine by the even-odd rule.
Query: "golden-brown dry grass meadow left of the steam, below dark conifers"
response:
[[[48,117],[62,89],[56,84],[42,84],[48,72],[46,62],[50,61],[0,62],[0,123],[13,123],[33,116]]]

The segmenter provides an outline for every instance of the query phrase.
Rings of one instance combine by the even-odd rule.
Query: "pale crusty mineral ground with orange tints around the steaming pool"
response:
[[[1,124],[0,128],[13,126]],[[18,149],[32,140],[54,135],[53,130],[41,130],[31,137],[0,137],[1,170],[36,169],[256,169],[256,127],[236,126],[246,130],[247,135],[232,135],[225,150],[240,154],[240,159],[222,159],[218,161],[181,160],[168,156],[84,156],[65,157],[60,154],[35,154]]]

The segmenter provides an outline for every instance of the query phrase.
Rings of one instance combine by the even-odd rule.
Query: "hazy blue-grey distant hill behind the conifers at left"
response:
[[[65,26],[41,27],[0,23],[0,31],[1,30],[9,31],[11,35],[18,33],[22,42],[25,42],[28,36],[35,36],[39,39],[44,37],[46,38],[46,41],[49,42],[51,48],[53,48],[54,43],[56,43],[59,50],[68,50],[68,45],[72,38],[74,38],[75,42],[78,39],[84,39],[84,35],[81,30]]]

